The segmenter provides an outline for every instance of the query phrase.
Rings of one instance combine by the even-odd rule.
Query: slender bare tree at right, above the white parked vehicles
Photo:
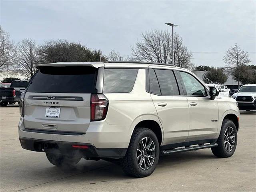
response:
[[[227,68],[230,69],[230,72],[234,78],[238,82],[238,89],[240,88],[240,69],[242,66],[250,63],[250,58],[248,52],[245,52],[235,44],[233,47],[226,51],[226,55],[223,58],[223,61],[226,63]]]

